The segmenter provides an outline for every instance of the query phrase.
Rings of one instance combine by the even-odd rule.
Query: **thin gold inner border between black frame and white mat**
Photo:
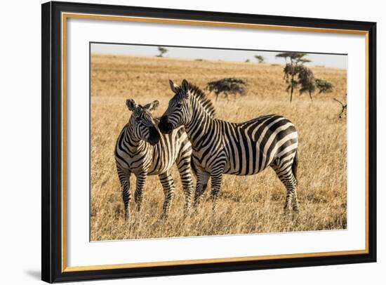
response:
[[[97,14],[84,14],[84,13],[62,13],[61,15],[61,51],[62,51],[62,272],[79,272],[87,270],[112,270],[112,269],[124,269],[135,267],[154,267],[154,266],[171,266],[171,265],[197,265],[208,263],[232,263],[240,261],[257,261],[257,260],[274,260],[280,258],[309,258],[309,257],[321,257],[321,256],[343,256],[354,254],[366,254],[368,253],[368,32],[362,30],[353,29],[325,29],[318,27],[296,27],[296,26],[280,26],[280,25],[261,25],[261,24],[248,24],[239,22],[214,22],[204,20],[182,20],[182,19],[169,19],[169,18],[145,18],[145,17],[131,17],[131,16],[117,16],[117,15],[97,15]],[[239,27],[239,28],[251,28],[251,29],[276,29],[281,31],[292,32],[323,32],[323,33],[337,33],[337,34],[360,34],[365,36],[366,44],[366,190],[365,190],[365,237],[366,246],[364,249],[352,250],[352,251],[328,251],[319,253],[292,253],[281,255],[269,255],[269,256],[242,256],[232,258],[207,258],[207,259],[195,259],[195,260],[171,260],[171,261],[154,261],[147,263],[124,263],[124,264],[112,264],[112,265],[86,265],[67,267],[67,235],[66,235],[66,216],[67,216],[67,204],[66,204],[66,138],[67,138],[67,18],[77,19],[93,19],[93,20],[115,20],[115,21],[128,21],[128,22],[153,22],[153,23],[166,23],[171,25],[199,25],[199,26],[211,26],[211,27]]]

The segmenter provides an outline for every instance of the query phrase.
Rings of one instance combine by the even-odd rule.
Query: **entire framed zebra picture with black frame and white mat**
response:
[[[376,260],[375,22],[42,5],[42,279]]]

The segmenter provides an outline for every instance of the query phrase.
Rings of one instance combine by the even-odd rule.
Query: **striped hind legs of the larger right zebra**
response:
[[[284,184],[287,190],[284,212],[288,213],[291,206],[293,206],[294,211],[298,211],[298,195],[296,194],[296,188],[298,187],[298,183],[292,173],[291,165],[286,164],[281,167],[272,166],[272,168],[274,168],[274,171],[279,177],[281,183]]]

